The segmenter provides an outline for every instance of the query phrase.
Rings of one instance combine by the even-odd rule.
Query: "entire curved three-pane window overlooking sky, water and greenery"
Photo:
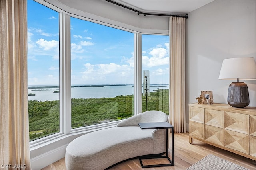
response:
[[[142,49],[138,43],[134,51],[140,33],[51,8],[28,1],[30,141],[58,132],[53,136],[65,135],[90,125],[113,125],[112,121],[134,115],[134,110],[168,114],[168,35],[142,35]],[[134,56],[140,50],[142,56]],[[134,72],[134,58],[136,64],[142,64],[141,73]],[[142,94],[134,94],[140,91],[140,77]]]

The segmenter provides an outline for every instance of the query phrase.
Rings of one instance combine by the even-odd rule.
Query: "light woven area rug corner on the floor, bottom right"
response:
[[[209,154],[186,170],[248,170],[240,165]]]

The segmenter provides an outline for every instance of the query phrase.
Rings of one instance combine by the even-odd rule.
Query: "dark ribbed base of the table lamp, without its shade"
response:
[[[243,108],[250,103],[247,84],[232,82],[228,87],[228,104],[232,107]]]

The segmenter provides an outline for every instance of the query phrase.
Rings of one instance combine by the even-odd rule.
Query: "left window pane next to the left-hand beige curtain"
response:
[[[30,141],[60,131],[59,13],[28,1]]]

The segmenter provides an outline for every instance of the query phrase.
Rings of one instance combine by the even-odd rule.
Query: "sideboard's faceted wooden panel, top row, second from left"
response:
[[[224,128],[224,111],[205,109],[204,113],[206,125]]]

